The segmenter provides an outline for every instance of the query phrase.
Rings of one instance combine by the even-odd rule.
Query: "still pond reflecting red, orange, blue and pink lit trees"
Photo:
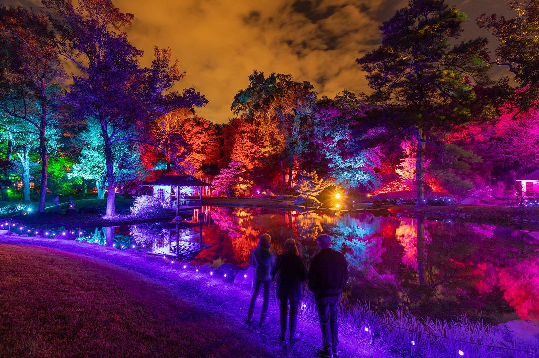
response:
[[[369,213],[230,207],[203,207],[186,221],[179,227],[150,223],[37,230],[214,268],[247,266],[261,233],[274,238],[278,253],[288,238],[298,239],[309,263],[317,252],[315,237],[328,233],[349,262],[346,296],[351,301],[367,301],[374,310],[400,306],[431,318],[466,314],[493,324],[517,318],[539,321],[536,231]]]

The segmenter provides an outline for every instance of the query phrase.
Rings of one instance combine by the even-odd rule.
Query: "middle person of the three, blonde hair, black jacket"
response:
[[[290,341],[297,341],[300,337],[296,333],[298,323],[298,307],[303,298],[301,286],[307,280],[307,269],[299,256],[298,246],[293,238],[285,242],[282,255],[277,257],[273,268],[273,279],[277,277],[277,297],[281,301],[281,334],[279,339],[285,340],[286,321],[288,318],[288,303],[290,303]]]

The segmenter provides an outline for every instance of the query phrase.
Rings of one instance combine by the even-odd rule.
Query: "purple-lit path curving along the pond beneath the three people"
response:
[[[270,303],[271,322],[267,327],[247,327],[244,319],[249,296],[248,287],[211,277],[207,271],[195,272],[193,269],[183,269],[182,264],[170,264],[169,261],[160,257],[146,255],[135,250],[121,251],[87,242],[2,235],[0,243],[46,247],[74,254],[73,257],[84,256],[83,263],[87,259],[95,260],[109,269],[122,271],[122,275],[131,275],[133,279],[149,287],[156,285],[164,287],[167,294],[176,298],[183,307],[187,307],[185,309],[188,314],[182,314],[182,317],[172,317],[179,321],[179,324],[182,324],[184,320],[187,321],[186,324],[190,324],[203,317],[205,324],[201,325],[201,332],[197,332],[200,336],[208,341],[212,341],[212,336],[218,336],[215,344],[216,347],[220,347],[223,345],[223,340],[226,341],[226,334],[223,335],[223,332],[232,332],[230,333],[231,345],[237,344],[239,336],[245,342],[243,348],[248,351],[248,353],[240,353],[240,349],[233,354],[213,356],[313,357],[315,356],[314,348],[321,340],[317,322],[300,320],[298,331],[303,334],[302,340],[293,346],[279,345],[279,308],[275,301]],[[151,301],[148,304],[151,304]],[[260,302],[257,303],[255,314],[259,313],[259,309]],[[171,314],[179,313],[171,312]],[[214,325],[206,321],[209,317],[215,318]],[[178,339],[182,339],[181,337],[182,334],[178,333]],[[182,342],[185,345],[190,344],[187,339]],[[341,357],[389,356],[388,353],[381,352],[379,349],[361,345],[352,334],[341,334],[341,348]],[[189,355],[179,354],[178,356]]]

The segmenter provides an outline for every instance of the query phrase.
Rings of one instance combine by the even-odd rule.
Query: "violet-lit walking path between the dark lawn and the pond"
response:
[[[170,264],[161,257],[147,255],[135,250],[117,250],[84,241],[55,240],[41,237],[20,237],[0,235],[0,242],[17,245],[34,245],[53,248],[72,254],[91,257],[106,262],[116,269],[127,270],[154,284],[167,287],[172,294],[186,303],[198,307],[204,314],[215,315],[221,321],[230,322],[229,327],[234,327],[240,332],[245,332],[245,339],[260,342],[269,354],[276,357],[299,357],[307,358],[316,356],[315,347],[320,345],[321,333],[317,321],[298,322],[298,332],[302,339],[294,345],[279,344],[279,307],[277,301],[272,299],[269,308],[271,322],[264,328],[253,325],[246,328],[244,322],[248,306],[250,292],[248,287],[225,282],[223,279],[211,277],[207,272],[195,272],[184,270],[182,264]],[[261,295],[260,295],[261,296]],[[260,302],[257,303],[255,318],[260,314]],[[216,327],[216,329],[219,329]],[[211,332],[201,332],[211,334]],[[383,352],[376,347],[365,346],[353,333],[341,332],[341,357],[389,357],[388,352]],[[188,342],[186,342],[188,344]],[[260,356],[267,356],[267,352],[261,352]]]

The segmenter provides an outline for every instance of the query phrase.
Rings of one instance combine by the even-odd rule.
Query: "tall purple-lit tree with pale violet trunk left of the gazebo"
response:
[[[116,214],[114,198],[113,143],[136,141],[126,137],[134,129],[147,126],[155,118],[175,108],[203,106],[207,101],[194,88],[182,94],[172,87],[183,78],[177,61],[171,63],[170,50],[154,49],[149,68],[141,68],[142,51],[129,43],[122,30],[131,25],[133,15],[120,12],[110,0],[81,0],[75,8],[71,0],[43,0],[51,11],[53,24],[61,34],[60,55],[77,67],[68,101],[85,118],[100,124],[107,169],[106,216]]]

